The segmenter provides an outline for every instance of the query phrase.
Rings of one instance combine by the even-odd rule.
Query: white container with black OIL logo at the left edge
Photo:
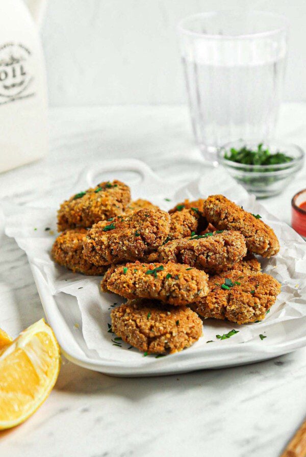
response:
[[[42,2],[0,0],[0,172],[47,153],[47,90],[38,33]]]

